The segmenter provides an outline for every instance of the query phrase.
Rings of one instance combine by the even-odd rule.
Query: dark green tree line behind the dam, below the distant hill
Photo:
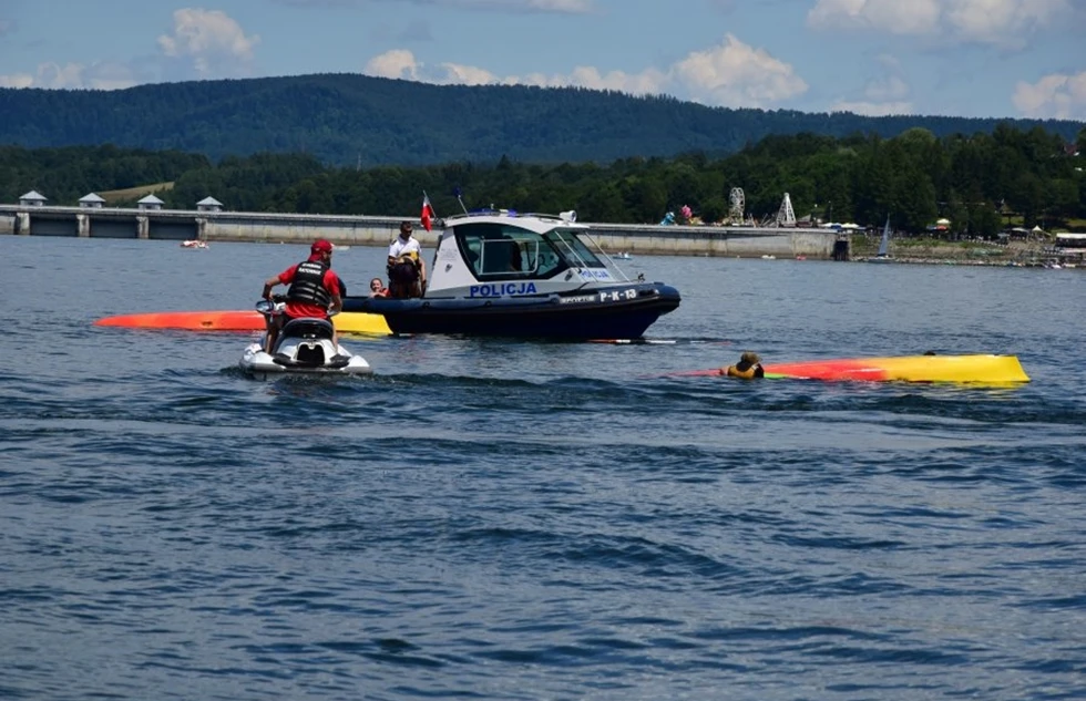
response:
[[[706,223],[729,214],[741,187],[746,212],[773,215],[789,193],[799,218],[923,231],[939,218],[950,233],[994,236],[1022,226],[1075,226],[1086,219],[1086,128],[1075,142],[1034,126],[938,137],[910,128],[893,136],[771,135],[710,157],[625,157],[596,163],[526,163],[502,156],[429,166],[337,167],[307,154],[229,156],[212,163],[178,151],[116,146],[0,147],[0,200],[34,188],[50,204],[90,192],[171,181],[167,207],[192,209],[211,195],[226,209],[417,216],[427,192],[438,213],[496,207],[557,213],[587,221],[655,224],[689,206]],[[457,193],[461,194],[458,199]],[[132,203],[127,203],[132,204]]]

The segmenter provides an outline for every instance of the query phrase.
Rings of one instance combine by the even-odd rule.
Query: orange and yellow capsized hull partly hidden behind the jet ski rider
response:
[[[380,315],[344,312],[332,317],[340,333],[391,333]],[[106,317],[96,327],[127,329],[180,329],[185,331],[263,331],[264,317],[258,311],[162,311]]]

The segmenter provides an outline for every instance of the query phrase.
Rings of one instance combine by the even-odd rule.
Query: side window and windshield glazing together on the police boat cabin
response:
[[[567,268],[605,267],[574,229],[540,235],[503,224],[462,224],[457,245],[480,280],[544,279]]]

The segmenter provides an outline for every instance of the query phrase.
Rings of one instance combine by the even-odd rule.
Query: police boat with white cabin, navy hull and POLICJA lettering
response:
[[[395,334],[638,339],[679,306],[678,290],[629,279],[576,213],[485,209],[442,227],[421,297],[347,297]]]

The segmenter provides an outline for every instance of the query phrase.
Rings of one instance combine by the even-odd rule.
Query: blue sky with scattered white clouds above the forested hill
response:
[[[0,86],[365,73],[1086,121],[1084,34],[1086,0],[0,0]]]

